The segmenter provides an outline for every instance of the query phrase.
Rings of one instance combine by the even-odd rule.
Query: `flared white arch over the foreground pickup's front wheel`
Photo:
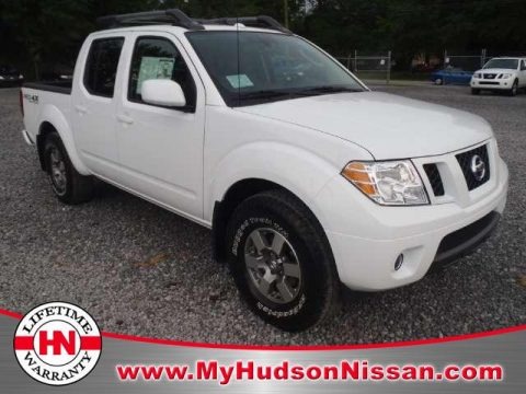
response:
[[[323,158],[289,143],[256,141],[243,144],[214,166],[208,190],[205,189],[205,196],[209,196],[205,202],[205,220],[211,219],[215,202],[221,201],[232,185],[247,178],[259,178],[278,184],[296,195],[325,228],[323,210],[315,199],[340,171]]]

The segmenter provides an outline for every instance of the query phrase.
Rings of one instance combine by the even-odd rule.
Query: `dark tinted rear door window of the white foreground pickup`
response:
[[[84,86],[88,92],[113,97],[123,44],[122,37],[94,39],[91,43],[84,71]]]

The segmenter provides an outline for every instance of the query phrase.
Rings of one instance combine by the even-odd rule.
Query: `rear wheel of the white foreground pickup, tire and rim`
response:
[[[91,199],[93,178],[77,172],[55,131],[49,134],[44,142],[44,161],[52,189],[60,201],[75,205]]]

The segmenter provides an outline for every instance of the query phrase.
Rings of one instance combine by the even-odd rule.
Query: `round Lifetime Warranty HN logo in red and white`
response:
[[[83,309],[67,302],[36,306],[19,323],[16,360],[38,382],[66,385],[95,368],[102,350],[99,327]]]

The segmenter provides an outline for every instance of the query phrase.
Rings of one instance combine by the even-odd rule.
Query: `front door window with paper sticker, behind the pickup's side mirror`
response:
[[[165,38],[139,37],[132,58],[128,100],[142,103],[140,88],[142,82],[151,79],[178,82],[184,92],[187,109],[195,108],[195,83],[178,48]]]

